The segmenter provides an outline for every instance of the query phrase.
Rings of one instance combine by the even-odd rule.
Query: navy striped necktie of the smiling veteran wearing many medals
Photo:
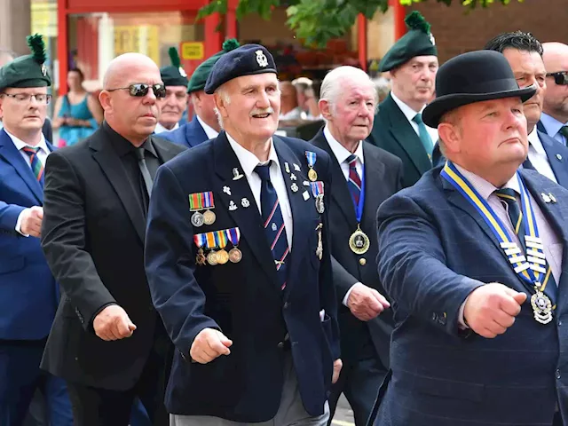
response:
[[[256,166],[255,171],[262,181],[260,186],[260,208],[262,209],[264,235],[272,250],[276,272],[278,272],[281,289],[283,290],[286,288],[286,280],[288,280],[287,263],[290,250],[288,248],[288,236],[284,226],[282,211],[280,210],[278,194],[270,180],[271,162],[264,166]]]

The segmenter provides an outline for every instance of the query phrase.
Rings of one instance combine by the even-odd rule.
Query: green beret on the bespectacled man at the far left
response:
[[[7,87],[49,87],[51,78],[45,67],[45,44],[42,36],[28,36],[31,55],[20,56],[0,67],[0,90]]]

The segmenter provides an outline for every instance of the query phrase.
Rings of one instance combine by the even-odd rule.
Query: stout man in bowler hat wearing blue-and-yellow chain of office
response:
[[[440,67],[436,91],[423,118],[447,162],[378,211],[396,325],[374,424],[568,424],[568,192],[518,170],[536,88],[472,51]]]

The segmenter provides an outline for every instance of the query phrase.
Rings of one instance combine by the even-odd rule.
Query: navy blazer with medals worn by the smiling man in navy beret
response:
[[[304,186],[308,180],[304,153],[317,153],[315,170],[325,185],[327,207],[330,159],[303,140],[273,139],[294,223],[284,291],[248,180],[233,180],[233,169],[242,169],[225,132],[158,170],[148,213],[146,274],[156,310],[177,347],[166,394],[170,413],[234,422],[272,419],[280,406],[287,352],[294,359],[305,410],[311,415],[323,413],[332,363],[339,358],[339,335],[327,208],[319,215],[310,187]],[[284,162],[296,174],[299,191],[291,190],[294,182],[284,174]],[[301,171],[294,171],[293,164]],[[217,220],[193,227],[188,195],[208,191],[213,192]],[[310,194],[308,200],[304,191]],[[243,199],[250,205],[243,206]],[[237,206],[233,211],[231,201]],[[321,260],[316,255],[319,224],[324,231]],[[241,262],[196,266],[193,235],[235,226],[241,231]],[[323,321],[321,310],[326,312]],[[190,361],[189,351],[206,327],[221,329],[233,346],[231,355],[201,365]],[[287,333],[289,348],[284,343]]]

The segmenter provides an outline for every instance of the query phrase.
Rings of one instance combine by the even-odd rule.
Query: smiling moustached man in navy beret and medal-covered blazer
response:
[[[158,170],[146,274],[177,348],[172,425],[327,424],[341,369],[331,163],[274,134],[276,73],[261,45],[225,53],[205,85],[224,130]]]

